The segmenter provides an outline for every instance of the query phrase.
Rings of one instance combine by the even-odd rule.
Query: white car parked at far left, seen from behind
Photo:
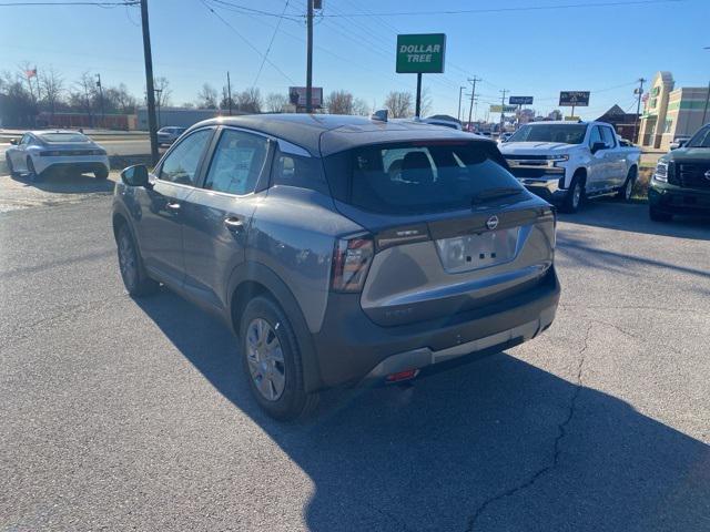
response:
[[[106,151],[77,131],[29,131],[6,153],[10,175],[26,174],[31,181],[44,177],[50,170],[91,172],[98,180],[109,176]]]

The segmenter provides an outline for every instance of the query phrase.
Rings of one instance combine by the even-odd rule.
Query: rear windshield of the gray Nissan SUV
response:
[[[376,144],[332,155],[325,167],[337,200],[376,213],[468,208],[484,197],[523,192],[486,141]]]

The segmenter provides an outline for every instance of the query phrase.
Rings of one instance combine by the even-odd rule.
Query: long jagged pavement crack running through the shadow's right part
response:
[[[570,423],[570,421],[572,420],[572,418],[575,417],[575,413],[577,411],[577,399],[579,398],[579,393],[581,392],[582,389],[582,374],[584,374],[584,369],[585,369],[585,358],[586,358],[586,351],[587,348],[589,346],[589,336],[591,334],[591,328],[594,326],[594,321],[590,321],[589,325],[587,326],[587,331],[585,332],[585,339],[582,342],[581,348],[579,349],[579,361],[577,364],[577,382],[575,385],[575,391],[572,392],[572,397],[569,401],[569,406],[567,408],[567,416],[565,417],[565,419],[557,426],[557,437],[555,438],[555,442],[552,446],[552,459],[550,461],[550,463],[544,468],[538,469],[537,471],[535,471],[530,477],[528,477],[527,480],[520,482],[517,485],[514,485],[513,488],[509,488],[500,493],[497,493],[493,497],[489,497],[488,499],[486,499],[485,501],[483,501],[478,508],[476,508],[476,510],[474,511],[474,513],[471,514],[470,518],[468,518],[467,521],[467,526],[466,526],[466,532],[474,532],[476,530],[476,523],[478,522],[478,520],[480,519],[480,516],[485,513],[485,511],[494,503],[496,503],[497,501],[500,501],[503,499],[506,499],[508,497],[513,497],[515,494],[517,494],[520,491],[524,491],[528,488],[530,488],[531,485],[534,485],[538,479],[540,479],[541,477],[544,477],[546,473],[548,473],[549,471],[551,471],[552,469],[555,469],[559,462],[559,457],[561,454],[561,442],[562,439],[565,438],[565,436],[567,436],[567,426]]]

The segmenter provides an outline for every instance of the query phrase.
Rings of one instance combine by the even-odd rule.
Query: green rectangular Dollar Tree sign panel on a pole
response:
[[[397,35],[397,73],[440,74],[445,51],[444,33]]]

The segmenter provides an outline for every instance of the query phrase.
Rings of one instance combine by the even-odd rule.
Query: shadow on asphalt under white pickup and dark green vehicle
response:
[[[575,214],[560,214],[559,221],[606,229],[710,241],[710,216],[678,215],[672,222],[652,222],[648,215],[647,204],[625,204],[611,198],[587,202]]]

